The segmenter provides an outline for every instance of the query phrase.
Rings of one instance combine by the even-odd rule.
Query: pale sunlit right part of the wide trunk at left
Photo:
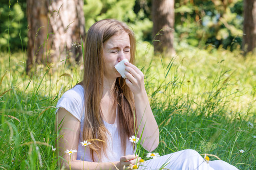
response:
[[[57,63],[67,57],[78,62],[82,57],[81,38],[84,39],[85,35],[83,0],[52,0],[50,12],[54,32],[52,62]]]

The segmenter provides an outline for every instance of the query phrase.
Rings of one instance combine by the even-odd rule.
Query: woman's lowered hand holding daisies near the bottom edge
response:
[[[117,168],[118,169],[129,169],[128,167],[130,165],[134,165],[136,159],[138,158],[138,155],[125,155],[122,156],[120,158],[120,162],[118,162],[117,164]],[[140,160],[141,158],[139,157],[139,159],[137,160],[137,162]]]

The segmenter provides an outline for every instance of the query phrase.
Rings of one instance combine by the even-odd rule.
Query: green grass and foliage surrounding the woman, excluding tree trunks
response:
[[[0,168],[56,169],[55,106],[81,80],[82,60],[67,53],[57,69],[43,63],[27,75],[27,1],[0,4]],[[161,134],[155,152],[195,149],[255,169],[256,57],[242,50],[243,12],[242,0],[175,1],[175,54],[166,56],[154,53],[152,1],[84,0],[86,31],[116,18],[136,34]]]

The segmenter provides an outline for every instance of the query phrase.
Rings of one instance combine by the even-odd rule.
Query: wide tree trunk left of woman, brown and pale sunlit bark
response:
[[[27,0],[27,17],[27,72],[36,64],[80,60],[85,35],[83,0]]]

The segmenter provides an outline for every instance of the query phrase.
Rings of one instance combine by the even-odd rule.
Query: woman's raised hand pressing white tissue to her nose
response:
[[[144,75],[143,72],[139,68],[137,68],[132,63],[124,63],[125,67],[125,76],[126,76],[126,84],[134,94],[139,94],[145,91],[144,85]]]

